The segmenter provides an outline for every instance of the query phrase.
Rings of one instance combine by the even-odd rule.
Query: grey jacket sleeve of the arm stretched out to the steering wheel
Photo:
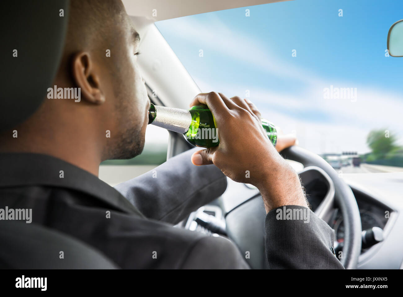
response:
[[[226,176],[214,165],[195,166],[193,148],[145,174],[115,186],[145,217],[177,224],[189,213],[219,197]]]

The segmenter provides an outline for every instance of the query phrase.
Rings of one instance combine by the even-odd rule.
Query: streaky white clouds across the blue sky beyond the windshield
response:
[[[251,100],[261,109],[264,117],[280,125],[285,132],[296,130],[301,146],[315,153],[359,151],[366,153],[368,132],[376,128],[389,128],[393,132],[403,131],[403,96],[389,90],[372,86],[357,85],[355,82],[336,81],[323,78],[307,69],[301,69],[289,61],[280,61],[258,40],[241,32],[233,31],[220,19],[210,16],[208,27],[195,19],[171,20],[171,33],[177,32],[185,44],[203,44],[203,50],[220,52],[264,70],[270,75],[283,77],[291,82],[303,82],[305,88],[300,96],[284,92],[274,92],[264,87],[249,88]],[[290,49],[291,56],[291,49]],[[329,71],[331,73],[331,70]],[[201,74],[199,74],[201,75]],[[209,77],[205,74],[204,77]],[[193,76],[203,92],[219,91],[227,96],[245,97],[245,90],[239,85],[209,82],[205,78]],[[224,81],[224,79],[223,79]],[[357,100],[324,99],[323,89],[330,85],[338,88],[357,88]],[[294,113],[321,113],[329,123],[314,118],[289,115],[281,110]],[[400,135],[403,144],[403,135]]]

